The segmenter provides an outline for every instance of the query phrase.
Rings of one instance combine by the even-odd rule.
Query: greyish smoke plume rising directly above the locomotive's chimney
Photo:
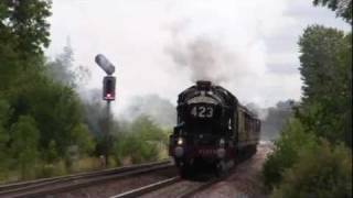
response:
[[[188,26],[176,25],[171,30],[171,42],[164,52],[176,69],[190,72],[190,80],[211,80],[214,84],[246,84],[252,77],[264,73],[263,53],[256,41],[226,42],[221,35],[192,34]]]

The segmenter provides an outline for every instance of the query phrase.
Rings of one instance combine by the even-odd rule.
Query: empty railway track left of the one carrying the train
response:
[[[173,167],[170,161],[147,163],[120,168],[44,178],[0,186],[0,197],[43,197],[105,182],[142,175]]]

